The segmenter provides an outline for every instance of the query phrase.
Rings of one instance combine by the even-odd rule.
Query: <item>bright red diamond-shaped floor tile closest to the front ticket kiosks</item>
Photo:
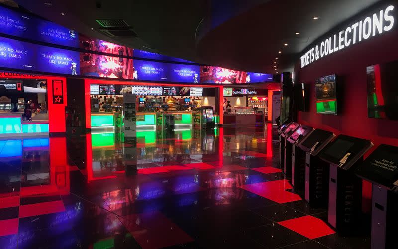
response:
[[[278,224],[289,228],[308,239],[316,239],[336,233],[324,221],[311,215],[281,221],[278,222]]]

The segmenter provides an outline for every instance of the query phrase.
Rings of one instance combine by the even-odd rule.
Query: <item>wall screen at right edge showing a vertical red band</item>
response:
[[[398,60],[366,68],[368,117],[398,120]]]

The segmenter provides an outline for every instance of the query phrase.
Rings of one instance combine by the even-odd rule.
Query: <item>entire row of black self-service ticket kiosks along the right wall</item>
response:
[[[342,234],[371,224],[374,249],[398,248],[398,147],[373,147],[366,139],[301,125],[282,124],[280,163],[312,208],[327,208],[328,223]],[[372,183],[372,219],[362,213],[362,179]],[[300,191],[298,191],[300,192]]]

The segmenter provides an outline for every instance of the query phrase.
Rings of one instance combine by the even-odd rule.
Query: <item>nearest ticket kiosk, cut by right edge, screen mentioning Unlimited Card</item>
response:
[[[372,183],[371,248],[398,248],[398,147],[380,145],[355,173]]]

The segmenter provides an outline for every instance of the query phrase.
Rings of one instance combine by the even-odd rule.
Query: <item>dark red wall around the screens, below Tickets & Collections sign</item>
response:
[[[398,31],[395,30],[351,45],[302,69],[296,64],[295,82],[311,84],[309,112],[298,112],[298,122],[333,131],[336,135],[369,139],[375,147],[381,143],[398,146],[398,121],[368,118],[366,96],[366,67],[398,60],[397,44]],[[316,113],[315,79],[330,74],[343,78],[342,98],[337,100],[341,113],[337,116]]]

